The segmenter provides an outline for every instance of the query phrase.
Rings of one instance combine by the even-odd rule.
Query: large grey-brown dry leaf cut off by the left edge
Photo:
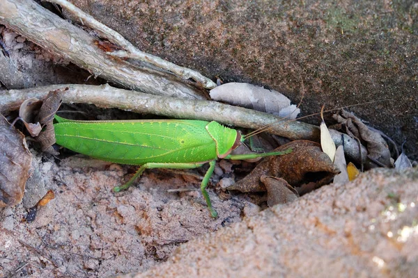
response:
[[[0,207],[15,206],[22,201],[29,177],[32,155],[24,135],[0,114]]]

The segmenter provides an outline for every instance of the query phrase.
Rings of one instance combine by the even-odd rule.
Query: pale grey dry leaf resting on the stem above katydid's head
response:
[[[210,97],[227,104],[254,109],[280,117],[295,119],[300,109],[291,100],[275,90],[249,83],[226,83],[210,90]]]

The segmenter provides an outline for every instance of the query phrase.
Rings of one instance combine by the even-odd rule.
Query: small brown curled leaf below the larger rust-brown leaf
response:
[[[278,177],[261,176],[261,182],[267,190],[267,204],[286,204],[299,197],[299,193],[287,181]]]

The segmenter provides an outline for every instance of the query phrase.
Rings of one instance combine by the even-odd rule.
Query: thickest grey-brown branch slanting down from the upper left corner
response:
[[[93,36],[49,12],[32,0],[0,0],[0,24],[61,56],[95,76],[153,95],[206,99],[203,92],[175,76],[139,69],[107,56]],[[202,89],[203,90],[203,89]]]

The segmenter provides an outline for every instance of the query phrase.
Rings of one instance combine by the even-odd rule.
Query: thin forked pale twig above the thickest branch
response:
[[[74,6],[72,3],[69,3],[65,0],[48,0],[51,3],[59,4],[61,7],[65,8],[68,13],[71,13],[74,17],[80,19],[82,24],[95,29],[98,31],[103,38],[107,38],[111,42],[118,44],[118,46],[123,47],[126,51],[115,51],[115,52],[108,52],[107,54],[111,56],[117,56],[121,58],[134,58],[137,60],[141,60],[156,67],[161,68],[162,70],[167,70],[176,74],[183,79],[193,79],[196,82],[199,82],[203,85],[203,88],[212,89],[216,87],[216,84],[208,79],[207,77],[203,76],[199,72],[195,72],[194,70],[190,70],[187,67],[180,67],[176,64],[170,63],[167,60],[164,60],[160,57],[153,56],[151,54],[147,54],[145,52],[140,51],[133,44],[127,41],[123,36],[112,30],[111,28],[107,27],[106,25],[98,22],[96,19],[91,17],[91,15],[87,15],[82,10]]]

